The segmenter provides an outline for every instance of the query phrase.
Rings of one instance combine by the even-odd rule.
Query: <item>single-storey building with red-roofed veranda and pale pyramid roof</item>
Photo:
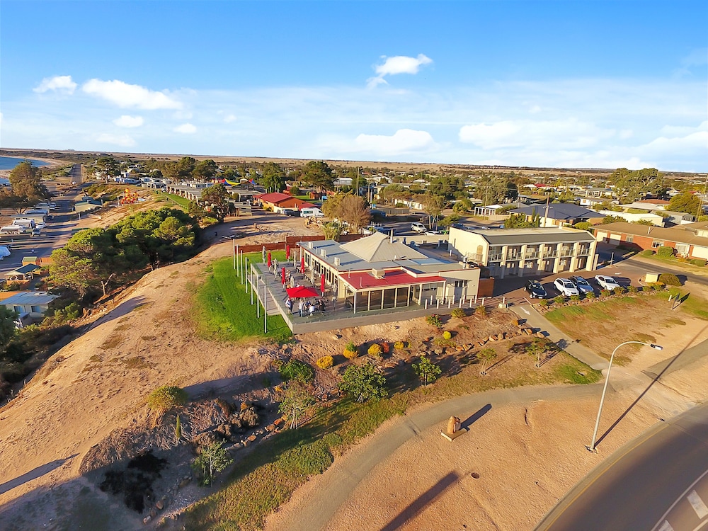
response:
[[[400,237],[376,232],[346,244],[300,246],[314,283],[324,275],[326,287],[354,314],[469,300],[479,292],[479,268]]]

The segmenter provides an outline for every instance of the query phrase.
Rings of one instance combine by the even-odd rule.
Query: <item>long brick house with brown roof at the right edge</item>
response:
[[[708,222],[678,227],[649,227],[618,222],[593,227],[595,239],[615,246],[630,245],[636,249],[673,247],[678,256],[708,259]]]

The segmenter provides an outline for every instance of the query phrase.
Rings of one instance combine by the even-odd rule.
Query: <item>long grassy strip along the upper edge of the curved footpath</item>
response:
[[[500,353],[501,356],[501,353]],[[498,371],[481,377],[470,359],[457,374],[421,387],[411,365],[397,369],[396,382],[404,390],[387,399],[357,404],[343,399],[319,409],[297,430],[285,430],[258,445],[236,464],[226,485],[198,502],[185,515],[190,530],[259,530],[265,517],[285,503],[308,476],[321,474],[349,445],[372,433],[388,418],[422,404],[489,389],[530,384],[594,383],[601,373],[566,353],[558,353],[541,369],[525,354],[511,358]],[[512,368],[508,368],[508,367]]]

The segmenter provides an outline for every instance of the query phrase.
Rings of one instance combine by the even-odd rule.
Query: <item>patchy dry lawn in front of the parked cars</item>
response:
[[[684,326],[683,319],[687,317],[708,319],[708,302],[695,295],[689,295],[678,309],[672,310],[668,297],[678,292],[673,288],[651,295],[615,296],[588,304],[572,304],[551,310],[545,317],[590,350],[610,358],[612,350],[624,341],[654,343],[653,334],[661,329]],[[686,292],[681,294],[686,295]],[[629,345],[618,352],[615,359],[620,364],[627,363],[629,354],[640,348],[641,345]]]

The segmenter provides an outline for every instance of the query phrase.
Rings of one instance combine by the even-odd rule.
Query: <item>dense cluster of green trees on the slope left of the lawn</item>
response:
[[[84,297],[120,285],[148,266],[159,267],[188,256],[198,239],[198,224],[181,210],[139,212],[107,229],[77,232],[52,253],[55,285]]]

